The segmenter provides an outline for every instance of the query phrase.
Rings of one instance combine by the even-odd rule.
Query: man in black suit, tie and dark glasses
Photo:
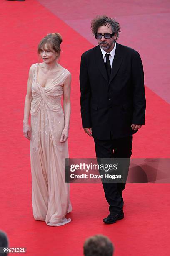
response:
[[[94,138],[97,158],[129,158],[133,134],[145,122],[143,64],[138,51],[116,43],[119,23],[107,16],[92,20],[98,46],[82,54],[80,91],[82,127]],[[124,218],[123,183],[102,183],[110,214],[105,223]]]

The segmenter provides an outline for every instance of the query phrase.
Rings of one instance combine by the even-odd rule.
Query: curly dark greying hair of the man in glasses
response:
[[[95,35],[97,33],[97,30],[99,27],[107,25],[108,27],[111,26],[112,32],[116,33],[117,38],[119,37],[119,32],[120,32],[120,24],[114,19],[114,18],[109,18],[107,16],[97,16],[94,20],[91,22],[91,30],[92,33]]]

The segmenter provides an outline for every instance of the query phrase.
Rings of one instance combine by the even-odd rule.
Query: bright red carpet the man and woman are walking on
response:
[[[81,128],[78,82],[80,56],[92,45],[35,0],[1,1],[0,8],[0,229],[10,247],[27,247],[27,255],[82,255],[85,238],[102,233],[116,256],[169,255],[169,184],[127,184],[125,219],[114,225],[102,223],[107,203],[101,184],[71,185],[70,224],[48,227],[33,219],[29,141],[22,131],[29,67],[39,61],[40,39],[60,32],[60,64],[72,73],[70,157],[95,157],[92,138]],[[134,136],[133,157],[169,157],[170,105],[147,87],[146,97],[146,125]]]

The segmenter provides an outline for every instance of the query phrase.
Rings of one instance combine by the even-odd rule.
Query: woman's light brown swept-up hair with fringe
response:
[[[62,36],[59,33],[50,33],[47,34],[40,43],[38,44],[38,53],[40,54],[42,51],[42,47],[47,44],[47,47],[58,54],[58,58],[60,58],[60,44],[62,43]]]

